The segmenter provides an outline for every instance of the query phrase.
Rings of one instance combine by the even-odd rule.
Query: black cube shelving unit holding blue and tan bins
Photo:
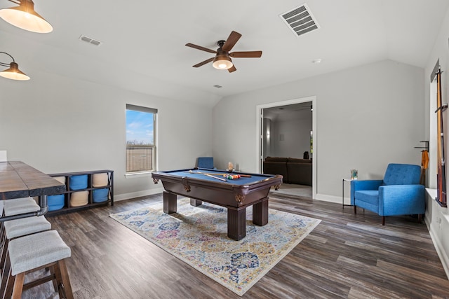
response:
[[[66,186],[66,191],[64,193],[60,193],[60,196],[63,195],[64,202],[61,208],[49,210],[48,215],[51,214],[61,214],[61,213],[68,213],[70,211],[79,211],[80,209],[86,209],[90,207],[98,207],[98,206],[105,206],[111,203],[111,206],[114,205],[114,171],[113,170],[95,170],[91,172],[66,172],[66,173],[60,173],[60,174],[48,174],[49,176],[52,176],[53,178],[64,178],[64,183]],[[95,176],[98,175],[98,176]],[[73,176],[77,176],[76,178],[73,178]],[[86,188],[76,188],[75,190],[72,190],[71,187],[71,181],[74,181],[74,179],[83,179],[84,176],[87,178],[86,182]],[[95,180],[95,178],[98,178],[100,176],[100,185],[98,185],[98,179]],[[97,184],[95,184],[95,182]],[[103,190],[107,189],[107,190]],[[94,193],[98,192],[106,192],[106,200],[102,200],[101,202],[95,202]],[[87,203],[86,204],[79,204],[75,207],[73,206],[73,200],[77,196],[74,195],[74,193],[82,193],[87,192]],[[77,194],[77,195],[78,195]],[[55,197],[53,197],[55,198]],[[48,198],[48,206],[50,207],[52,204],[52,197]],[[71,204],[72,203],[72,204]]]

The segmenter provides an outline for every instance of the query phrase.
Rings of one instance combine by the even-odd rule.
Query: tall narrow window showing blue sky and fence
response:
[[[126,104],[126,173],[155,168],[157,109]]]

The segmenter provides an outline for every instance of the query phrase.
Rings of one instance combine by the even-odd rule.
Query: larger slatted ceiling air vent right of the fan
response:
[[[320,28],[307,4],[302,4],[302,6],[293,8],[291,11],[282,13],[279,17],[297,36]]]

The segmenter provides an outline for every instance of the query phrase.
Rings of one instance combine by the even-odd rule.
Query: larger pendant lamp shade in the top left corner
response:
[[[30,32],[48,33],[53,31],[50,23],[34,11],[34,3],[32,0],[21,0],[19,5],[12,8],[0,9],[0,18],[15,27]]]

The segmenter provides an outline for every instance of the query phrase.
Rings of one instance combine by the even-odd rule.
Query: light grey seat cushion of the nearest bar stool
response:
[[[8,252],[13,275],[69,258],[72,254],[56,230],[13,239],[8,244]]]

